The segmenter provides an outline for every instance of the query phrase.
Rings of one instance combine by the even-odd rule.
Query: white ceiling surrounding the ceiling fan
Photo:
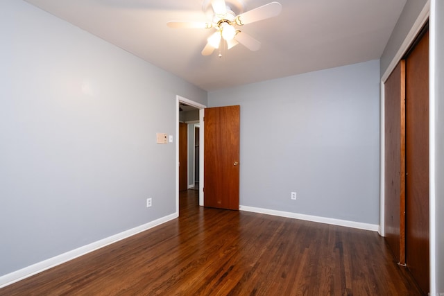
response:
[[[214,29],[167,28],[208,21],[203,0],[26,0],[138,57],[213,91],[379,59],[406,0],[278,0],[278,17],[242,31],[262,43],[200,54]],[[244,0],[246,10],[271,0]]]

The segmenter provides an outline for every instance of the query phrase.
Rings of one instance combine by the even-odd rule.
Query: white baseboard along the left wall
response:
[[[0,288],[8,286],[10,284],[14,284],[17,281],[22,279],[26,279],[27,277],[31,277],[32,275],[36,275],[39,272],[44,270],[48,270],[49,268],[53,268],[54,266],[60,265],[72,259],[76,259],[79,256],[83,256],[89,252],[93,252],[95,250],[100,249],[101,247],[105,247],[112,243],[116,243],[117,241],[121,241],[125,238],[133,236],[135,234],[139,234],[140,232],[144,232],[147,229],[153,228],[157,225],[161,225],[163,223],[168,222],[169,220],[173,220],[178,218],[178,213],[171,214],[169,216],[164,216],[157,220],[151,221],[150,223],[146,223],[144,225],[140,225],[133,229],[128,229],[119,234],[114,234],[113,236],[109,236],[108,238],[103,238],[100,241],[96,241],[94,243],[90,243],[89,245],[84,245],[83,247],[78,247],[77,249],[71,250],[69,252],[60,254],[58,256],[54,256],[50,259],[46,259],[39,263],[35,263],[26,268],[22,268],[21,270],[17,270],[15,272],[8,273],[7,275],[3,275],[0,277]]]

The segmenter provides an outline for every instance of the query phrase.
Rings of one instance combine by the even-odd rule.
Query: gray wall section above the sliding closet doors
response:
[[[404,42],[405,37],[409,33],[414,22],[418,18],[422,8],[424,8],[427,0],[407,0],[404,9],[401,12],[400,18],[393,28],[390,39],[387,42],[386,48],[381,56],[380,76],[384,74],[388,65],[395,58],[396,53]]]

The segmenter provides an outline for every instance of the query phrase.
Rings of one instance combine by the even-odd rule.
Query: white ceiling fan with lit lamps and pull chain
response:
[[[244,3],[241,0],[205,0],[202,10],[211,18],[210,22],[168,21],[167,26],[169,28],[216,29],[216,32],[208,37],[207,45],[202,51],[202,55],[211,55],[214,49],[219,49],[222,40],[227,42],[228,49],[240,43],[250,51],[257,51],[261,43],[239,30],[238,27],[275,17],[280,14],[282,5],[279,2],[271,2],[244,12]],[[220,53],[219,56],[221,56]]]

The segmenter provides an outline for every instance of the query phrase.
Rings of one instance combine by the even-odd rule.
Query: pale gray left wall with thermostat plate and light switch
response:
[[[24,1],[0,1],[0,36],[0,275],[174,214],[155,133],[207,93]]]

